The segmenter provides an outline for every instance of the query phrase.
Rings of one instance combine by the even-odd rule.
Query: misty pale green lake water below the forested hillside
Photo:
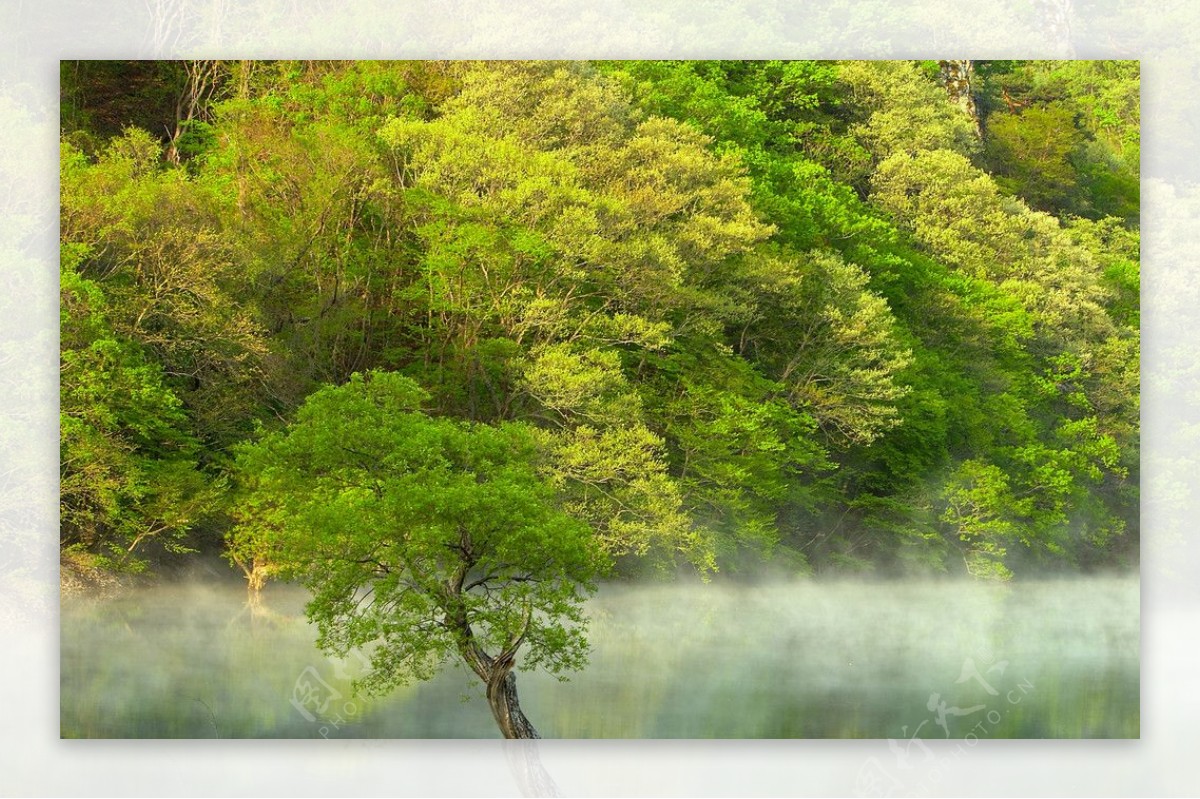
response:
[[[65,597],[64,738],[496,738],[474,674],[355,696],[306,594]],[[654,584],[589,602],[592,660],[518,673],[546,738],[1136,738],[1135,577]],[[916,744],[919,746],[919,744]]]

